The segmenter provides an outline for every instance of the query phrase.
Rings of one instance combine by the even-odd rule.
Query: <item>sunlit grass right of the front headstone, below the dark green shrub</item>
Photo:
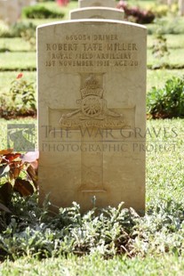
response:
[[[158,137],[154,134],[160,131]],[[147,202],[183,202],[183,119],[148,121]],[[160,147],[160,148],[159,148]]]

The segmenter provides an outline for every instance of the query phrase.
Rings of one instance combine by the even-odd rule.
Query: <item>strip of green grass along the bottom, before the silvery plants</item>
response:
[[[100,256],[69,256],[46,259],[42,262],[22,258],[14,263],[5,262],[0,269],[4,276],[181,276],[183,271],[184,261],[177,256],[150,256],[145,259],[115,257],[111,260],[104,260]]]

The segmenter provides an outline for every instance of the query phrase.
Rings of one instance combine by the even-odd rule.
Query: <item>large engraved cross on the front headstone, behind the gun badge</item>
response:
[[[133,123],[124,118],[129,110],[108,109],[104,97],[103,74],[81,76],[81,98],[76,100],[76,110],[60,110],[59,126],[62,129],[81,131],[81,185],[82,192],[105,192],[103,184],[103,138],[113,129],[132,128]],[[52,109],[53,111],[54,109]],[[132,116],[133,118],[133,116]],[[133,119],[132,119],[133,120]],[[112,139],[112,138],[111,138]],[[84,150],[84,147],[87,150]]]

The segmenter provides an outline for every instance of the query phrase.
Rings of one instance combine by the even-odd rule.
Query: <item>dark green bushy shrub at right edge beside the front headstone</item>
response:
[[[148,113],[153,118],[184,117],[184,77],[168,79],[163,88],[148,92]]]

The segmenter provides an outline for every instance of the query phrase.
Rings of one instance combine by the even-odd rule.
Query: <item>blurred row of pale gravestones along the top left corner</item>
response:
[[[0,20],[6,23],[15,23],[20,18],[24,6],[35,4],[34,0],[0,0]]]

